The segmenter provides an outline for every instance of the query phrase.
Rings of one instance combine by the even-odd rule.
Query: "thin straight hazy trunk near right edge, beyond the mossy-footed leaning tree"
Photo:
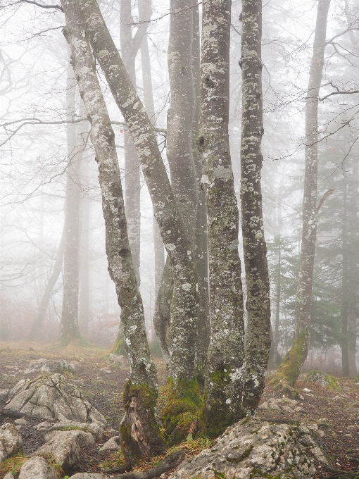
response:
[[[347,176],[344,170],[343,192],[343,229],[341,232],[342,263],[341,263],[341,375],[349,375],[348,354],[348,199],[347,199]]]

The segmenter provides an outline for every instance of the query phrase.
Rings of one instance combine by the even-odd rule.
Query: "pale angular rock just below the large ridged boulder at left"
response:
[[[56,462],[66,472],[80,462],[80,448],[95,444],[91,433],[82,430],[51,431],[45,435],[46,443],[32,455],[52,452]]]

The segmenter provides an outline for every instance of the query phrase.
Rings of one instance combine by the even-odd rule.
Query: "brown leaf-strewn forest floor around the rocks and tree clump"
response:
[[[31,348],[31,349],[30,349]],[[25,375],[23,371],[32,359],[65,359],[66,361],[79,361],[80,370],[72,375],[66,373],[70,382],[73,382],[83,392],[108,421],[106,440],[117,435],[118,425],[123,416],[122,389],[130,371],[121,369],[118,364],[108,363],[109,352],[97,347],[69,346],[39,346],[29,343],[4,343],[0,342],[0,389],[13,387],[20,379],[35,378],[39,373]],[[158,408],[165,402],[165,364],[161,359],[156,359],[158,369],[158,382],[160,397]],[[100,371],[106,367],[111,373]],[[359,470],[359,464],[353,462],[350,456],[359,456],[359,383],[355,378],[337,378],[342,391],[328,391],[311,382],[298,381],[296,388],[301,391],[304,400],[300,402],[302,411],[288,415],[277,411],[258,410],[258,417],[272,418],[282,421],[303,421],[317,423],[324,432],[322,442],[332,456],[333,465],[341,471],[354,472]],[[304,392],[307,388],[310,392]],[[270,387],[265,388],[262,402],[270,397],[281,395]],[[4,404],[1,405],[4,407]],[[33,426],[42,422],[42,419],[28,420],[27,425],[21,427],[24,452],[30,454],[44,443],[44,434],[38,432]],[[0,425],[4,422],[12,422],[11,419],[0,416]],[[210,446],[208,440],[189,440],[180,445],[186,454],[194,455],[204,447]],[[102,444],[101,444],[102,445]],[[82,450],[80,464],[81,471],[101,472],[122,464],[120,452],[101,452],[100,444]],[[179,449],[177,447],[176,449]],[[142,464],[142,468],[148,468],[156,464],[160,458],[155,458],[151,464]],[[318,477],[326,478],[332,473],[324,468],[318,470]],[[4,477],[1,471],[0,479]]]

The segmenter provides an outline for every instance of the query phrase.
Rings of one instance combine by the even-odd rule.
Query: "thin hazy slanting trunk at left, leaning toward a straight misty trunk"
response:
[[[56,254],[55,264],[53,265],[53,271],[49,280],[46,283],[44,294],[42,296],[42,300],[39,306],[39,312],[37,313],[37,317],[32,325],[30,331],[30,340],[37,340],[41,336],[42,326],[44,325],[44,321],[46,318],[46,312],[49,308],[49,302],[51,298],[51,294],[53,292],[53,287],[56,285],[56,281],[60,276],[61,270],[63,268],[63,251],[65,249],[65,227],[63,228],[63,233],[61,235],[60,244],[58,245],[58,250]]]

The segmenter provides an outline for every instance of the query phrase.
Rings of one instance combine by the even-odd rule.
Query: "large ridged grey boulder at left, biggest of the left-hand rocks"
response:
[[[70,419],[80,423],[97,421],[106,424],[102,414],[61,374],[20,380],[8,397],[10,402],[5,409],[15,409],[47,420]]]

